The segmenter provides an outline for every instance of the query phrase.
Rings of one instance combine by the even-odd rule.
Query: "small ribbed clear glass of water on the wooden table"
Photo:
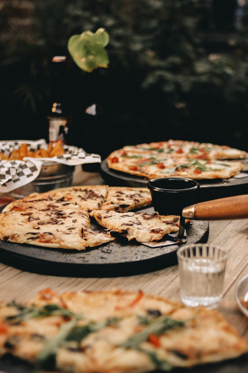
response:
[[[182,246],[177,251],[181,301],[188,306],[218,307],[223,292],[227,253],[207,244]]]

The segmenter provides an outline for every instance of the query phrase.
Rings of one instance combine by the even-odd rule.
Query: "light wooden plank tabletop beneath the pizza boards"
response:
[[[73,185],[97,184],[104,184],[98,173],[83,172],[80,166],[76,167]],[[2,204],[7,203],[5,197],[0,195]],[[235,301],[236,285],[248,274],[248,219],[210,221],[207,243],[221,246],[228,253],[224,295],[218,310],[248,341],[248,318],[242,314]],[[177,265],[135,276],[98,278],[97,273],[92,273],[91,278],[67,278],[24,272],[0,263],[1,301],[28,301],[47,287],[59,294],[75,290],[109,290],[113,287],[129,291],[141,289],[146,293],[180,301]]]

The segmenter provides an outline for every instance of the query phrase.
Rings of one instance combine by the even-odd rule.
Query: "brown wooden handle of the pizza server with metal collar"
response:
[[[248,194],[196,203],[183,209],[182,215],[195,220],[248,218]]]

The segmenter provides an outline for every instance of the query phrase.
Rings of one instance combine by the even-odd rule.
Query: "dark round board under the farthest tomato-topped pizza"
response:
[[[242,161],[248,167],[248,160]],[[110,169],[107,160],[104,159],[100,165],[101,176],[110,186],[145,187],[148,178],[131,175],[125,172]],[[248,173],[242,174],[243,178],[197,180],[200,188],[194,198],[194,203],[215,200],[217,198],[231,197],[233,195],[247,194]],[[187,207],[187,206],[185,206]]]

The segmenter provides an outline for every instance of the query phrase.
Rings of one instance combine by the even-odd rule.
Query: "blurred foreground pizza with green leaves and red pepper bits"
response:
[[[46,300],[47,298],[47,300]],[[248,344],[217,310],[129,292],[44,289],[0,305],[0,356],[35,371],[145,373],[228,360]]]

